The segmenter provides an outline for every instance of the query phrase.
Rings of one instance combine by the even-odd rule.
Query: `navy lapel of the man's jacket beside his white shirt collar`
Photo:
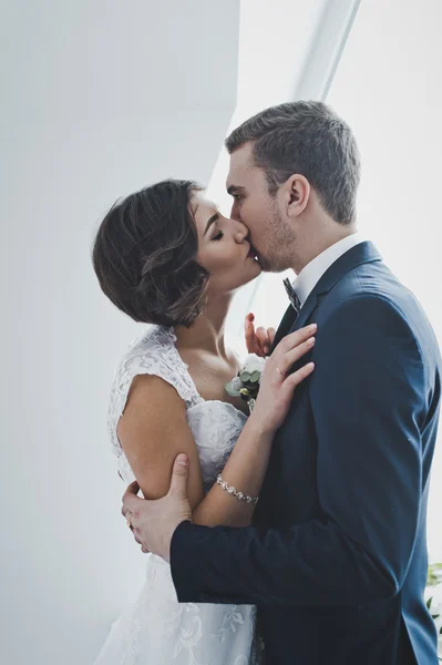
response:
[[[296,317],[295,309],[291,305],[287,309],[276,332],[271,350],[275,349],[282,337],[306,326],[322,297],[325,297],[345,275],[362,264],[372,263],[374,260],[382,260],[382,257],[374,245],[369,242],[360,243],[346,252],[346,254],[342,254],[342,256],[340,256],[319,279],[318,284],[302,305],[299,316]]]

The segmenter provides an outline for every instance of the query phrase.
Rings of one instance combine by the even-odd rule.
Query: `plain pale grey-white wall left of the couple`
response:
[[[90,265],[122,194],[207,182],[234,111],[237,0],[2,6],[0,662],[92,663],[141,586],[105,430],[140,328]]]

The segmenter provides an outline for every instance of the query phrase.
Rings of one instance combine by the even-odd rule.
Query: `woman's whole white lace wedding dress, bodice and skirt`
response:
[[[205,401],[175,347],[173,329],[153,327],[123,358],[111,392],[109,428],[119,471],[134,480],[116,426],[136,375],[155,375],[185,401],[199,452],[205,491],[223,470],[246,422],[229,403]],[[113,624],[95,665],[257,665],[261,646],[251,605],[178,603],[171,567],[146,555],[146,579],[135,603]]]

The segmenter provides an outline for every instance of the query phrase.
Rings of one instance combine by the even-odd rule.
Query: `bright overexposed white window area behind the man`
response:
[[[267,95],[259,84],[259,66],[253,66],[253,44],[260,40],[254,42],[251,30],[263,30],[263,22],[259,12],[249,11],[249,1],[243,2],[239,103],[232,126],[265,106],[291,99],[289,88],[278,76]],[[289,3],[286,4],[289,11]],[[266,21],[271,21],[268,14],[263,16]],[[318,16],[312,12],[308,17],[310,37]],[[363,0],[327,99],[349,122],[360,146],[360,228],[374,242],[391,269],[418,296],[440,341],[441,20],[440,0],[422,0],[419,4],[403,0]],[[289,21],[279,27],[266,23],[267,39],[287,25],[290,25]],[[286,39],[280,39],[278,48],[284,49],[287,43]],[[266,63],[270,69],[268,59],[273,53],[280,62],[280,50],[274,52],[270,43],[266,51]],[[259,63],[259,57],[256,57]],[[277,68],[276,60],[274,65]],[[287,73],[287,69],[285,71]],[[229,205],[223,200],[227,167],[228,157],[223,154],[212,183],[214,198],[220,198],[225,206]],[[279,321],[287,306],[281,277],[265,275],[237,297],[227,332],[238,350],[244,350],[243,318],[248,309],[256,314],[259,324],[276,325]],[[439,561],[442,560],[440,448],[436,448],[433,464],[429,510],[429,550],[431,557]]]

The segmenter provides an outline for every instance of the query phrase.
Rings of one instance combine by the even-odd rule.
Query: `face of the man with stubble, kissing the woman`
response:
[[[254,165],[253,143],[230,155],[227,192],[233,196],[230,217],[243,222],[263,270],[279,273],[291,266],[294,237],[281,213],[277,196],[271,196],[263,168]]]

